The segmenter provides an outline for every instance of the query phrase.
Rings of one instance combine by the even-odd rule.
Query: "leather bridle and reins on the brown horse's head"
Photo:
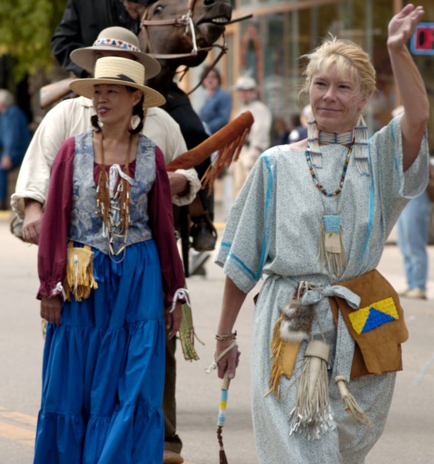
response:
[[[157,60],[174,60],[174,59],[177,59],[177,58],[186,58],[186,57],[189,57],[189,56],[197,56],[199,51],[208,52],[209,50],[212,50],[212,48],[219,48],[220,53],[218,54],[216,59],[212,62],[212,64],[209,67],[209,71],[211,71],[215,67],[215,65],[220,61],[222,56],[225,53],[227,53],[227,51],[228,51],[228,47],[227,47],[227,44],[226,44],[225,32],[223,32],[223,34],[222,34],[223,35],[223,44],[222,45],[219,44],[219,43],[213,43],[208,47],[198,47],[197,42],[196,42],[196,32],[194,30],[194,22],[193,22],[193,10],[194,10],[194,5],[195,4],[196,4],[196,0],[188,0],[187,13],[182,15],[180,18],[165,19],[165,20],[155,20],[155,21],[154,20],[150,21],[150,20],[147,19],[148,11],[149,11],[149,8],[150,8],[150,7],[147,7],[144,10],[142,18],[140,20],[140,29],[142,29],[144,31],[145,36],[146,36],[146,40],[148,42],[148,46],[149,46],[149,53],[148,54],[150,56],[152,56],[153,58],[157,59]],[[234,23],[236,21],[242,21],[244,19],[251,18],[251,17],[252,17],[252,15],[244,15],[244,16],[239,17],[239,18],[237,18],[235,20],[232,20],[232,21],[230,21],[228,23],[225,23],[225,25],[227,25],[229,23]],[[169,25],[173,25],[173,26],[176,26],[176,27],[185,27],[184,37],[190,43],[190,45],[192,47],[190,53],[154,53],[153,52],[152,45],[151,45],[151,40],[150,40],[150,37],[149,37],[149,32],[147,30],[147,27],[148,26],[169,26]],[[191,33],[191,38],[190,38],[189,32]],[[185,74],[185,72],[187,70],[188,70],[188,67],[184,71],[184,74]],[[187,95],[190,95],[190,93],[194,92],[202,84],[204,79],[205,79],[205,76],[192,90],[190,90],[190,92],[188,92]]]

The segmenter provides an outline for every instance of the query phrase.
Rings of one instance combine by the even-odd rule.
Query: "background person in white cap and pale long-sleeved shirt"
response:
[[[250,111],[255,120],[249,137],[241,150],[238,162],[233,165],[234,190],[237,194],[259,155],[270,146],[272,114],[266,105],[258,99],[257,84],[252,77],[240,76],[235,83],[235,89],[240,99],[238,114]]]

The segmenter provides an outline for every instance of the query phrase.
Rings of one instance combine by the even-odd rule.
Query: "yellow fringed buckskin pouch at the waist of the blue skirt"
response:
[[[98,288],[93,277],[93,251],[89,245],[78,248],[74,247],[73,242],[68,243],[68,260],[63,288],[68,301],[71,301],[71,295],[76,301],[89,298],[92,288]]]

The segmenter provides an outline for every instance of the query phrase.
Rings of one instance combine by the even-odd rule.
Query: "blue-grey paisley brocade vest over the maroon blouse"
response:
[[[75,137],[72,210],[68,241],[90,245],[108,255],[108,241],[102,236],[102,221],[96,213],[96,186],[93,178],[94,154],[92,131]],[[127,246],[152,238],[148,226],[148,193],[155,181],[155,144],[140,134],[136,171],[130,186],[130,225]],[[123,238],[113,239],[119,250]]]

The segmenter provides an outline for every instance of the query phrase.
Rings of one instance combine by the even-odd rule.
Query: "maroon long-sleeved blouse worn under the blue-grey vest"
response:
[[[51,296],[57,283],[62,282],[66,274],[74,156],[75,139],[72,137],[62,144],[51,168],[48,196],[39,237],[38,299]],[[94,163],[95,185],[98,181],[100,167],[100,164]],[[108,172],[110,165],[105,167]],[[129,165],[130,177],[134,178],[135,170],[136,160]],[[175,241],[169,178],[164,156],[158,147],[155,148],[155,182],[148,196],[148,215],[148,225],[160,258],[165,307],[167,308],[172,304],[177,289],[184,287],[185,278]]]

